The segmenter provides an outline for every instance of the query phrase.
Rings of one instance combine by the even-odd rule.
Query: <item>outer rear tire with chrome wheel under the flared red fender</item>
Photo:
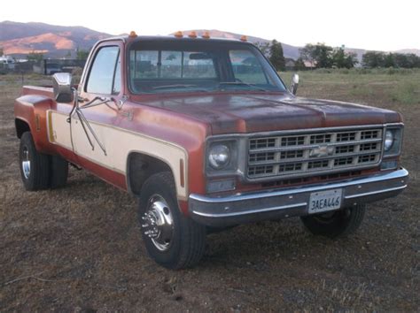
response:
[[[35,191],[50,187],[50,156],[36,150],[30,132],[20,137],[19,169],[25,189]]]

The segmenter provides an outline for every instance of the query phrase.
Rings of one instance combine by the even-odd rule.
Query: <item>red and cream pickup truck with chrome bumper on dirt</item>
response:
[[[234,225],[299,217],[316,235],[354,233],[366,203],[407,187],[401,115],[302,98],[298,83],[245,38],[101,40],[77,86],[56,73],[16,100],[23,185],[63,187],[74,164],[135,195],[145,248],[170,269]]]

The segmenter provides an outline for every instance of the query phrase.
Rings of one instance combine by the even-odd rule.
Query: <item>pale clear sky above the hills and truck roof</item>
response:
[[[3,6],[0,21],[83,26],[108,34],[218,29],[294,46],[420,49],[419,0],[19,0],[19,8]]]

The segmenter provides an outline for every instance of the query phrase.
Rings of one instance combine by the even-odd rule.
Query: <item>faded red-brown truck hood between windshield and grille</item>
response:
[[[200,94],[140,101],[205,122],[213,134],[400,122],[401,115],[355,103],[283,94]]]

